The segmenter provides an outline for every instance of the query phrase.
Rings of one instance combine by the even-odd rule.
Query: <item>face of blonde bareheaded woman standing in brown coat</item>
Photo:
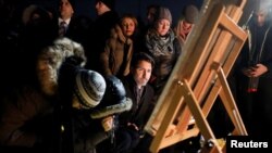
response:
[[[132,18],[125,17],[121,23],[121,28],[125,37],[129,37],[135,31],[135,23]]]

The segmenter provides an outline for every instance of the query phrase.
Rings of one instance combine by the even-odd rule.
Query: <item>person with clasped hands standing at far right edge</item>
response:
[[[260,0],[255,7],[248,40],[236,62],[237,105],[249,135],[272,138],[271,1]]]

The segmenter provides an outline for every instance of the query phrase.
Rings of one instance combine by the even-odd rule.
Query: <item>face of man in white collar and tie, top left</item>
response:
[[[61,0],[59,4],[59,12],[62,20],[67,20],[74,14],[73,7],[69,0]]]

